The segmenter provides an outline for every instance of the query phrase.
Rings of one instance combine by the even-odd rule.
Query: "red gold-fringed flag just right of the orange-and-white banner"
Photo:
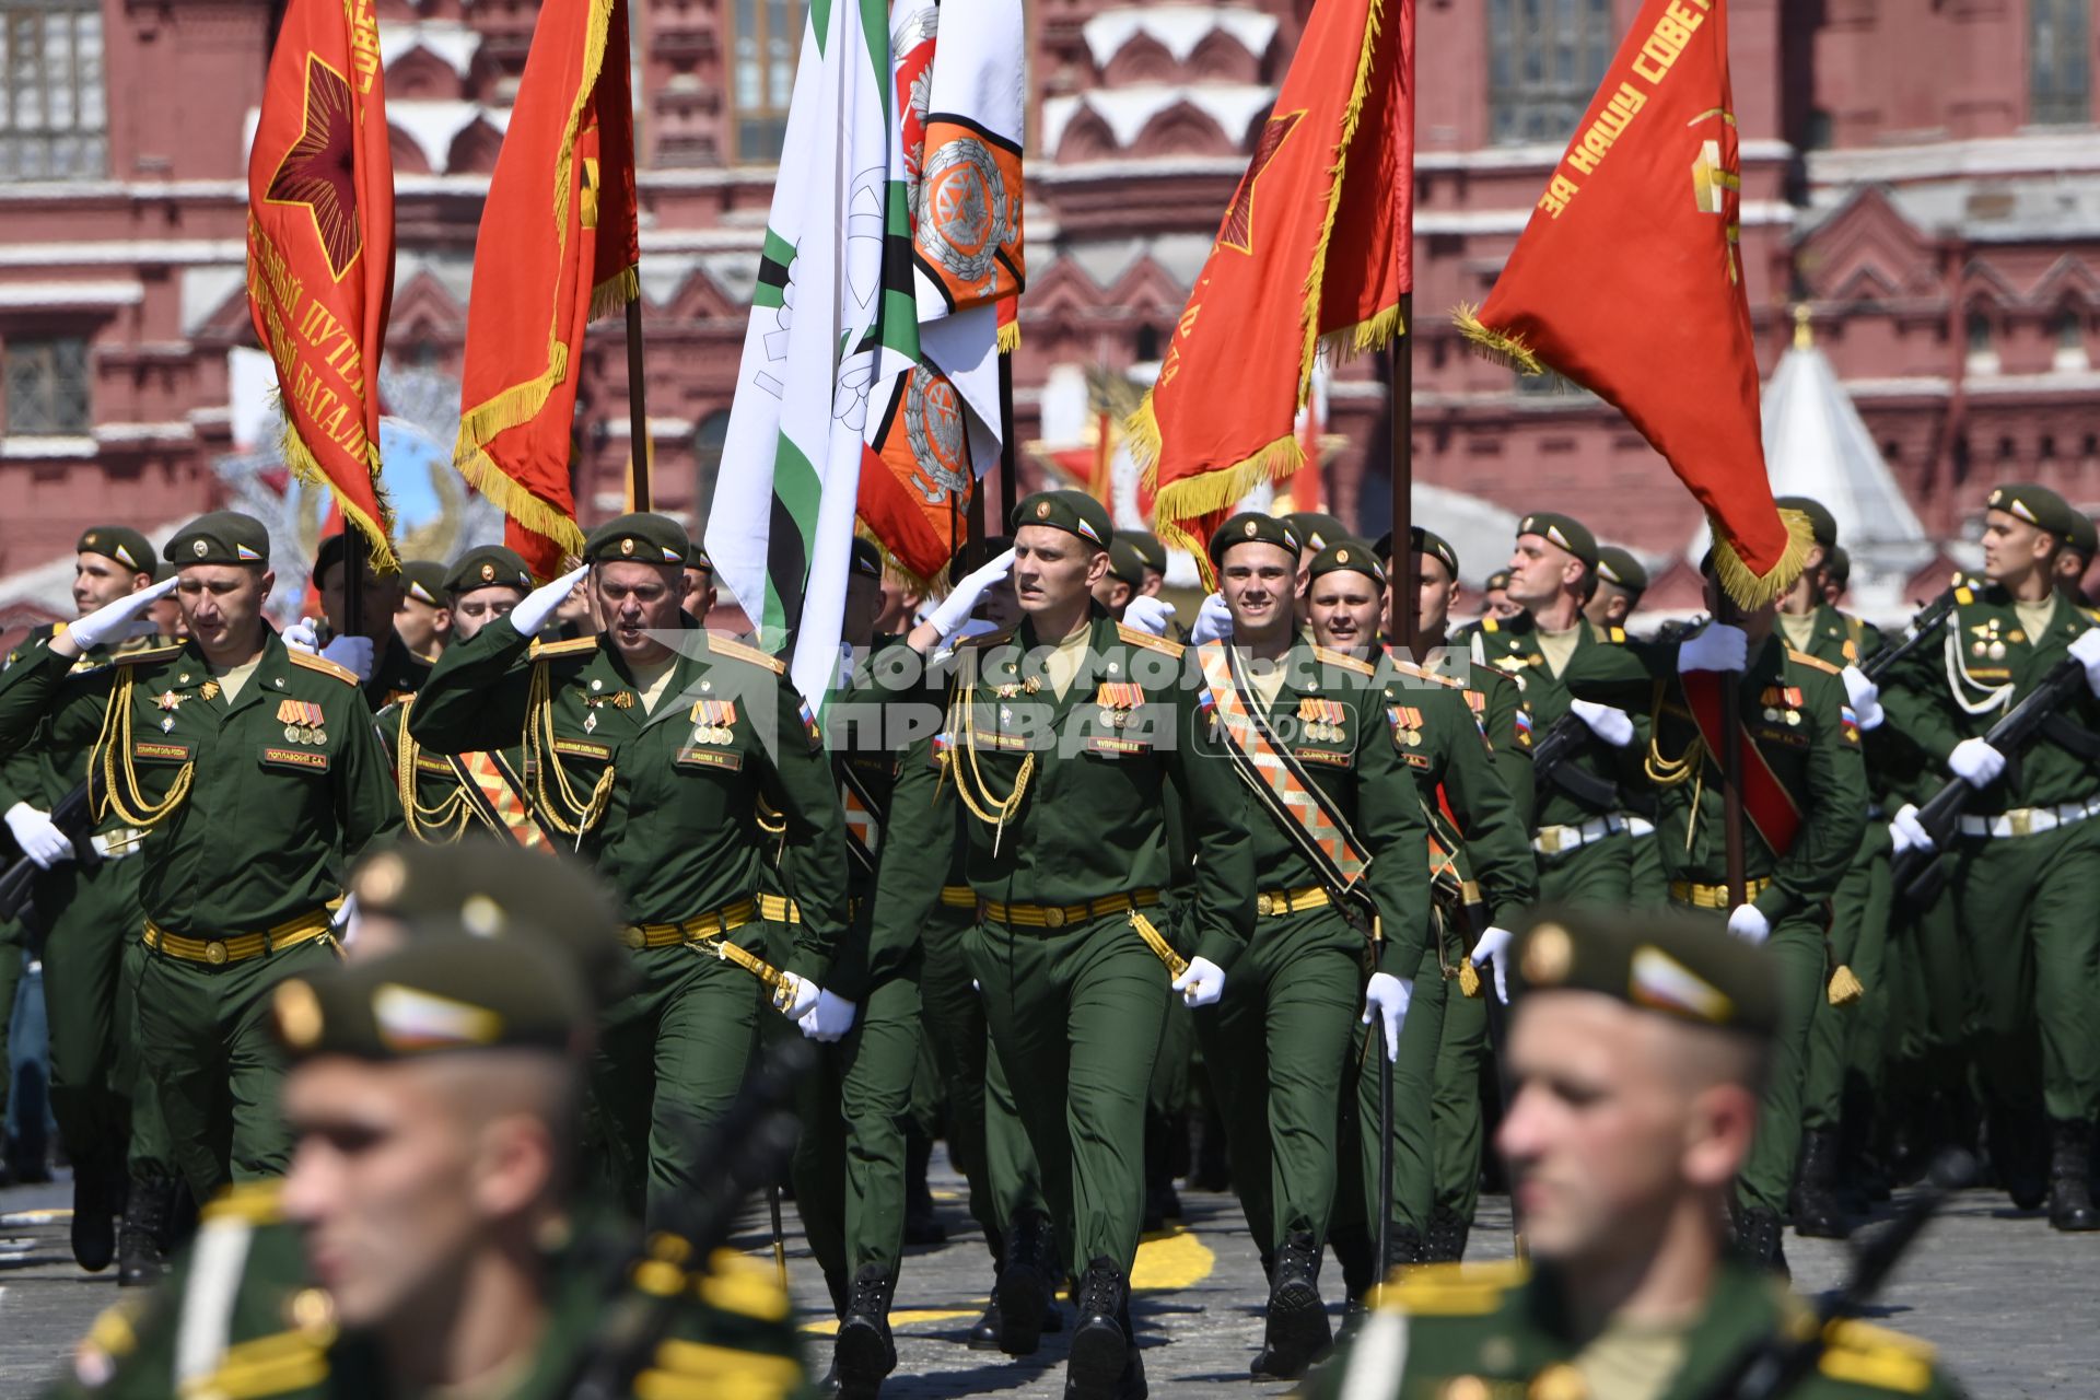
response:
[[[1369,351],[1411,288],[1409,0],[1321,0],[1132,416],[1157,529],[1208,569],[1210,531],[1304,462],[1298,409],[1325,342]]]

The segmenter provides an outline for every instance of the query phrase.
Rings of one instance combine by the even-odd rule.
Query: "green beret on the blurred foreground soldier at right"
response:
[[[1712,915],[1539,909],[1516,934],[1512,966],[1512,997],[1594,991],[1701,1026],[1779,1031],[1777,959]]]

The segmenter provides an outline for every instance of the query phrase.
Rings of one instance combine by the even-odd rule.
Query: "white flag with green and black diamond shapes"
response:
[[[890,206],[884,0],[811,0],[708,556],[817,707],[838,670]]]

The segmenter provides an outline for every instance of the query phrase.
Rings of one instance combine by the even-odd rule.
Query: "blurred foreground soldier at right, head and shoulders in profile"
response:
[[[1732,1261],[1720,1224],[1785,1016],[1772,955],[1676,913],[1581,909],[1541,913],[1512,961],[1497,1146],[1535,1270],[1407,1274],[1312,1394],[1739,1394],[1722,1381],[1812,1316]],[[1833,1322],[1823,1345],[1774,1394],[1957,1394],[1896,1333]]]

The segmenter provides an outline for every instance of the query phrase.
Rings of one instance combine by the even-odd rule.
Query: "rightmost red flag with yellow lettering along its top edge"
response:
[[[1722,586],[1758,607],[1800,575],[1808,521],[1764,474],[1739,170],[1726,0],[1646,0],[1493,292],[1457,321],[1617,405],[1705,506]]]

